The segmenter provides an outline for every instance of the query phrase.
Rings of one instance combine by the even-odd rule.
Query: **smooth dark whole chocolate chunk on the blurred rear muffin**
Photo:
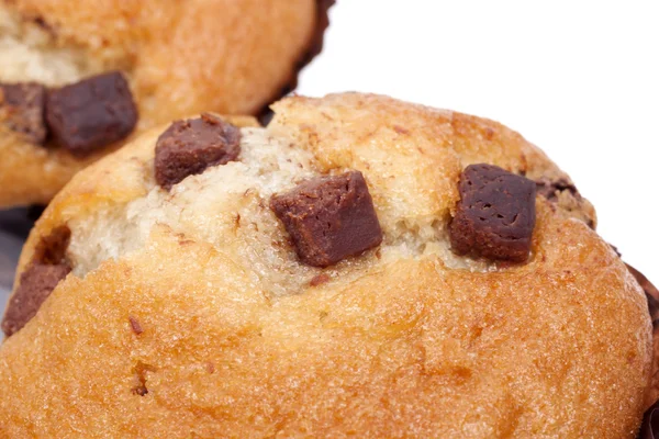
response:
[[[85,157],[127,137],[137,109],[125,78],[113,71],[51,91],[46,121],[60,146]]]

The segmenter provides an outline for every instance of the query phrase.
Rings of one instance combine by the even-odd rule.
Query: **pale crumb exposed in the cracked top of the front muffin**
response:
[[[256,288],[273,295],[301,292],[321,272],[344,279],[357,275],[380,259],[387,262],[439,255],[451,268],[493,268],[485,261],[455,256],[443,218],[424,226],[400,223],[395,229],[384,228],[384,241],[378,249],[323,271],[305,266],[270,210],[269,200],[320,176],[313,155],[267,128],[242,128],[241,148],[237,161],[189,176],[170,192],[150,181],[146,196],[69,224],[74,273],[83,277],[104,260],[143,249],[154,227],[163,225],[180,234],[181,243],[211,244],[242,267]],[[368,181],[368,175],[366,178]]]

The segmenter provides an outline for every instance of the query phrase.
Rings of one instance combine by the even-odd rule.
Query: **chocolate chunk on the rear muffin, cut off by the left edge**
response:
[[[46,89],[38,83],[0,83],[0,110],[4,113],[4,124],[36,145],[46,142],[45,105]]]

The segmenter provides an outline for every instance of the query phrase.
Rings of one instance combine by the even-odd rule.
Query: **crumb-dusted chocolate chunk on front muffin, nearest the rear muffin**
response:
[[[156,181],[164,189],[241,154],[241,130],[211,114],[177,121],[156,144]]]

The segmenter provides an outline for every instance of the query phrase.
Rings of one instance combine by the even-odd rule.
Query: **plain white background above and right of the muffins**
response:
[[[338,0],[331,21],[301,94],[369,91],[504,123],[659,283],[659,1]]]

